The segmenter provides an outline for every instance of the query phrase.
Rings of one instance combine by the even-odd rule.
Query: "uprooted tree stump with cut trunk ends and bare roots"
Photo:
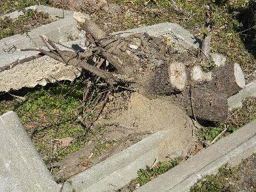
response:
[[[227,118],[227,97],[245,85],[239,64],[204,73],[199,64],[209,64],[209,60],[198,57],[199,50],[193,47],[179,53],[174,47],[167,46],[164,37],[146,33],[107,36],[82,14],[74,13],[74,19],[79,29],[87,32],[91,42],[85,52],[62,51],[47,37],[42,39],[53,49],[26,50],[37,50],[67,65],[79,66],[105,79],[112,88],[120,85],[148,98],[169,99],[191,117],[211,121]],[[105,62],[98,65],[89,60]]]

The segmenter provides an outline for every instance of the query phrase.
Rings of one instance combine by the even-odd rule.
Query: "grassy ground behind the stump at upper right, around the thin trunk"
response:
[[[191,12],[190,16],[175,11],[168,0],[111,0],[111,2],[121,5],[125,3],[129,9],[126,14],[119,14],[115,18],[115,23],[109,32],[149,26],[159,22],[175,22],[195,36],[203,37],[205,22],[203,0],[188,1],[187,6],[183,0],[175,1],[182,9]],[[228,63],[238,62],[245,70],[245,74],[251,74],[256,69],[255,47],[252,45],[256,30],[255,1],[212,2],[212,51],[225,55]],[[99,17],[94,19],[97,22]]]

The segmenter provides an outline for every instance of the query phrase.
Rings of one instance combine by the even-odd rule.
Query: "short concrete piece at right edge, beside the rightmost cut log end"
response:
[[[245,85],[245,88],[240,90],[239,93],[228,98],[229,110],[242,107],[242,101],[246,97],[256,97],[256,81]]]

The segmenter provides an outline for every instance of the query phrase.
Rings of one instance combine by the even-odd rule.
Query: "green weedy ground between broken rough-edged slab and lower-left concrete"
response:
[[[79,150],[94,134],[86,132],[77,120],[82,114],[82,106],[77,106],[81,104],[84,86],[84,80],[79,78],[75,82],[39,87],[26,94],[24,101],[0,101],[0,115],[7,110],[15,111],[44,161],[60,160]],[[67,137],[72,142],[62,148],[56,139]]]

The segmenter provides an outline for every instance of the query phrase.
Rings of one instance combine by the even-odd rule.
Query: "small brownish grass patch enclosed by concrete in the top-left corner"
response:
[[[24,12],[24,15],[12,20],[9,17],[0,18],[0,39],[13,36],[15,34],[22,34],[39,27],[43,24],[51,22],[48,14],[43,12],[32,11],[31,9]]]

